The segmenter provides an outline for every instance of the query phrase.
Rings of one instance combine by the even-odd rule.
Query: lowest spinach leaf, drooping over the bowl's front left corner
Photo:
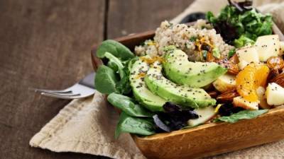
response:
[[[115,138],[117,139],[121,132],[139,135],[155,134],[155,125],[149,119],[131,117],[122,112],[119,117],[119,123],[116,125]]]

